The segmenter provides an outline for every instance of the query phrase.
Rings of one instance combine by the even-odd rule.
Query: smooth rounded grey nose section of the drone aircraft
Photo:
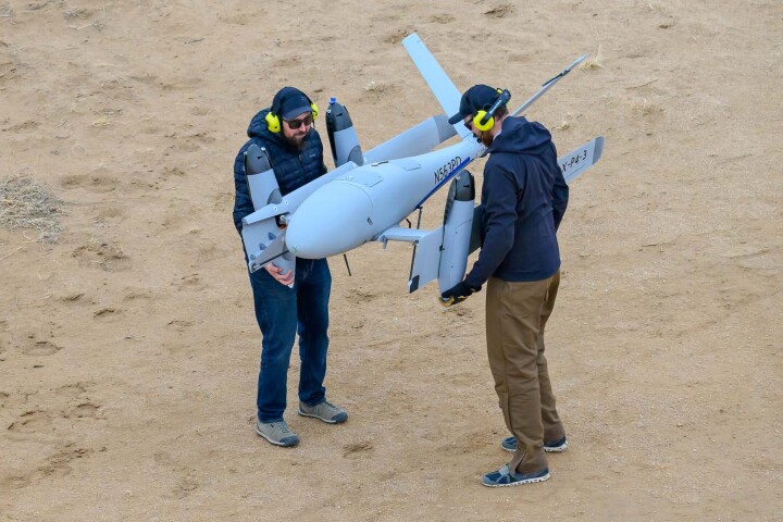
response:
[[[286,228],[286,246],[298,258],[337,256],[372,236],[372,201],[356,184],[333,181],[306,199]]]

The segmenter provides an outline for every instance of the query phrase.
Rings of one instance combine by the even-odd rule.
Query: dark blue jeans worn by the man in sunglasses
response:
[[[332,274],[325,259],[296,261],[294,288],[277,283],[265,270],[250,274],[256,320],[261,328],[261,370],[258,418],[283,420],[286,408],[288,364],[295,334],[299,334],[299,400],[323,402],[328,348],[328,299]]]

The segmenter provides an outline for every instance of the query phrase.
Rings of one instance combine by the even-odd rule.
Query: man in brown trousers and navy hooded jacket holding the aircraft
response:
[[[568,446],[555,407],[544,356],[544,325],[560,283],[556,232],[568,206],[568,185],[549,132],[537,122],[511,117],[486,85],[471,87],[449,122],[463,121],[489,153],[481,204],[482,249],[464,281],[443,294],[464,298],[487,283],[486,339],[506,425],[502,442],[514,451],[508,464],[483,477],[486,486],[512,486],[549,478],[545,451]]]

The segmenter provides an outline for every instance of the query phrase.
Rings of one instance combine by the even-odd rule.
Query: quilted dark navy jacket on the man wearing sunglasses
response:
[[[239,149],[234,160],[234,226],[241,232],[243,217],[253,212],[250,188],[245,173],[245,151],[250,145],[265,147],[270,154],[272,169],[274,169],[281,194],[296,190],[307,185],[326,172],[323,162],[323,145],[315,128],[311,128],[304,138],[301,150],[291,147],[283,133],[271,133],[264,117],[269,109],[264,109],[253,116],[248,127],[250,139]]]

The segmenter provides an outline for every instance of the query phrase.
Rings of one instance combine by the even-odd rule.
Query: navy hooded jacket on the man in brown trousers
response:
[[[546,279],[560,268],[556,232],[568,206],[551,134],[538,122],[507,117],[487,152],[482,249],[465,283]]]

